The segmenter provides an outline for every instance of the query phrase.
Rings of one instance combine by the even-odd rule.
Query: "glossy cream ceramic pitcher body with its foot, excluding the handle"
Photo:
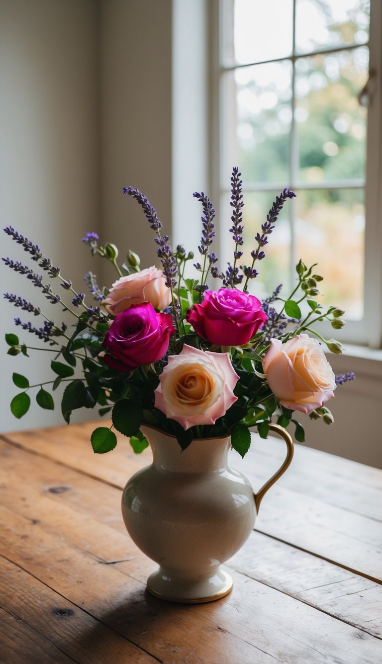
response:
[[[231,470],[229,438],[193,440],[182,452],[176,438],[142,427],[153,463],[138,471],[122,496],[129,535],[159,564],[148,590],[172,602],[211,602],[228,594],[220,567],[249,537],[255,523],[253,489]]]

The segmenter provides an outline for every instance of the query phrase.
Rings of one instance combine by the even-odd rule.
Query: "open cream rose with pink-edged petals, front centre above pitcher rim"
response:
[[[228,353],[200,351],[184,344],[170,355],[155,390],[155,408],[184,429],[215,424],[237,400],[233,388],[239,380]]]

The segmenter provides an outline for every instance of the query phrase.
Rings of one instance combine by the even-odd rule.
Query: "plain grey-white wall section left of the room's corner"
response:
[[[89,260],[81,239],[86,231],[99,230],[100,224],[97,26],[93,0],[0,0],[2,228],[14,226],[38,243],[78,290],[83,289]],[[29,254],[3,232],[0,244],[1,256],[28,262]],[[50,305],[25,277],[3,262],[0,270],[2,293],[22,295],[46,315],[62,319],[60,305]],[[0,307],[0,430],[62,421],[58,398],[54,412],[34,404],[22,420],[11,415],[9,402],[19,391],[11,381],[13,371],[25,374],[31,383],[34,376],[50,380],[47,360],[54,355],[5,355],[5,332],[20,329],[13,317],[28,321],[30,315],[3,297]],[[34,318],[34,325],[38,321],[40,317]],[[27,332],[19,337],[32,346],[40,343]],[[35,394],[31,390],[33,400]]]

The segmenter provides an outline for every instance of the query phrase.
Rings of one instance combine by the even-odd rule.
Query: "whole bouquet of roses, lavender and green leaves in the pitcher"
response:
[[[251,442],[250,428],[267,437],[273,417],[286,428],[292,426],[296,440],[304,440],[304,430],[294,412],[310,418],[333,421],[324,404],[334,396],[337,384],[352,380],[353,373],[334,376],[322,346],[341,353],[341,344],[326,340],[314,325],[327,319],[334,329],[344,325],[344,311],[322,308],[317,296],[322,276],[300,260],[296,266],[296,286],[288,297],[281,285],[261,302],[249,293],[249,284],[259,274],[257,266],[265,258],[268,236],[287,199],[295,194],[285,189],[269,210],[261,232],[255,236],[251,265],[241,264],[243,252],[243,194],[241,173],[231,176],[233,262],[225,270],[218,267],[212,252],[215,210],[202,193],[194,197],[202,204],[200,262],[193,264],[198,278],[186,278],[192,252],[178,245],[172,250],[155,208],[137,189],[124,193],[135,199],[155,231],[157,256],[162,269],[140,270],[137,254],[129,250],[127,261],[117,262],[114,244],[98,244],[94,232],[86,234],[93,256],[109,260],[118,279],[102,290],[93,272],[85,282],[94,305],[85,302],[64,278],[60,268],[46,258],[40,248],[11,226],[5,232],[21,244],[31,260],[50,277],[58,280],[64,293],[52,290],[29,266],[10,258],[5,264],[31,280],[50,303],[59,303],[76,317],[74,330],[57,324],[39,307],[22,297],[5,293],[10,303],[34,316],[42,316],[42,327],[15,318],[15,324],[34,334],[54,354],[52,391],[67,382],[62,396],[62,415],[70,422],[76,408],[99,406],[99,415],[111,413],[111,426],[100,426],[92,434],[94,452],[109,452],[117,444],[113,429],[128,436],[135,452],[147,446],[141,425],[147,424],[176,436],[182,450],[194,438],[231,436],[231,444],[244,456]],[[219,288],[210,288],[208,278]],[[60,290],[60,289],[58,289]],[[308,335],[310,333],[310,336]],[[34,347],[7,334],[9,355],[23,355]],[[46,348],[46,347],[49,348]],[[21,418],[31,404],[29,390],[36,392],[42,408],[53,409],[52,394],[42,384],[31,385],[28,378],[13,374],[21,392],[11,401],[11,411]]]

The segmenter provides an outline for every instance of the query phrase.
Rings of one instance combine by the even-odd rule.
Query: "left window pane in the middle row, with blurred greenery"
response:
[[[272,62],[235,71],[237,157],[243,181],[289,180],[292,64]]]

